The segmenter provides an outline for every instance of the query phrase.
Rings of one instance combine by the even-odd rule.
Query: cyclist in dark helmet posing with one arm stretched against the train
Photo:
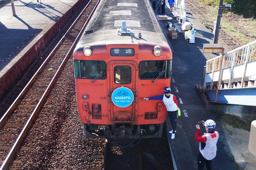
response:
[[[171,139],[174,139],[176,126],[177,126],[176,119],[178,116],[178,102],[176,100],[175,95],[171,94],[170,87],[164,87],[163,91],[164,91],[163,95],[159,95],[156,97],[149,97],[149,98],[144,97],[143,99],[144,101],[146,100],[162,100],[163,101],[171,121],[171,126],[173,127],[173,130],[171,130],[169,133],[171,133]]]

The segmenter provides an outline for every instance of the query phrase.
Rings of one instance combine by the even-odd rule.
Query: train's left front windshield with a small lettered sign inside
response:
[[[76,78],[106,78],[106,63],[103,61],[74,60],[74,68]]]

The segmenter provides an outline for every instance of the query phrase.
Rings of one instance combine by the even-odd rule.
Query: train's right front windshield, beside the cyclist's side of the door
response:
[[[156,79],[171,77],[171,60],[140,62],[140,79]]]

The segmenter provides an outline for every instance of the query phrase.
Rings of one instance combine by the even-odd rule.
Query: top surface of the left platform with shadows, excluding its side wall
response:
[[[78,0],[0,1],[0,78]],[[16,14],[16,16],[13,16]]]

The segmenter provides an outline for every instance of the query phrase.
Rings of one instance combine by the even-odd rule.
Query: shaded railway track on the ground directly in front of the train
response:
[[[140,144],[124,149],[111,145],[107,140],[104,143],[94,143],[92,147],[94,150],[104,150],[104,152],[89,156],[89,159],[102,162],[99,167],[90,167],[89,170],[174,169],[165,133],[161,138],[143,139]]]

